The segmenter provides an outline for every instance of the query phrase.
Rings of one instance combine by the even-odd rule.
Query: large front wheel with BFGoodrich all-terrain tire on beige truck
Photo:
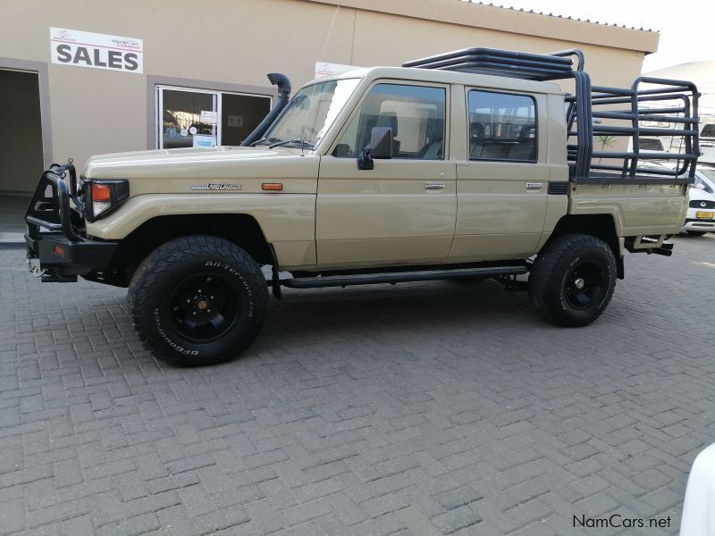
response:
[[[214,339],[191,339],[181,332],[189,328],[174,318],[178,307],[172,311],[172,303],[185,281],[204,276],[214,284],[222,281],[219,289],[226,291],[218,299],[233,305],[232,320],[223,322],[225,331],[216,330]],[[201,305],[210,307],[208,299]],[[181,301],[189,303],[189,299]],[[265,277],[253,257],[228,240],[206,235],[173,239],[157,247],[139,265],[129,288],[131,323],[139,339],[158,359],[179,366],[217,364],[239,356],[261,330],[267,303]]]

